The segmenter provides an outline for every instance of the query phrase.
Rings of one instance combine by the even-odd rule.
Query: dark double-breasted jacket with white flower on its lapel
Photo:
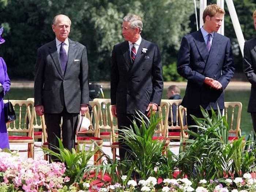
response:
[[[142,48],[147,48],[142,53]],[[162,65],[156,44],[142,39],[136,59],[131,64],[129,44],[124,41],[112,51],[111,104],[117,113],[145,113],[150,102],[160,105],[163,90]]]

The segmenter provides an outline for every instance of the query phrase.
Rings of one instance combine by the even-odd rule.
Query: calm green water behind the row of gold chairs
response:
[[[181,96],[184,96],[185,90],[181,90]],[[110,90],[104,90],[106,98],[110,98]],[[242,102],[242,118],[240,128],[242,135],[248,135],[252,130],[251,115],[247,113],[247,106],[249,101],[250,91],[225,91],[225,101],[240,101]],[[11,89],[9,93],[10,99],[27,99],[28,97],[34,97],[33,89]],[[166,99],[166,90],[163,91],[163,99]]]

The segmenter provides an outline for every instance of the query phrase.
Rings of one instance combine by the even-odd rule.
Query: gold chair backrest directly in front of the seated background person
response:
[[[181,104],[182,99],[162,99],[161,102],[168,102],[170,105],[169,118],[167,121],[167,129],[178,129],[180,130],[178,106]]]

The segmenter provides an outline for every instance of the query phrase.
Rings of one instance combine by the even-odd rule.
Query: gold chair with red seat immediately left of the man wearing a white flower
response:
[[[112,141],[112,129],[111,129],[111,120],[109,113],[111,113],[111,109],[109,110],[109,106],[111,105],[110,99],[100,99],[95,98],[93,101],[98,102],[101,105],[101,113],[100,113],[100,120],[99,120],[99,137],[101,139],[108,139],[110,144],[113,143]],[[117,133],[114,132],[114,136],[117,137]],[[105,147],[110,147],[107,145]]]

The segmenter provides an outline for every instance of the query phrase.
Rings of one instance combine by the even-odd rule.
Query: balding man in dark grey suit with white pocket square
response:
[[[48,142],[59,146],[60,121],[65,148],[75,147],[75,124],[79,111],[88,111],[88,62],[86,47],[68,38],[71,20],[66,15],[53,19],[56,38],[37,51],[35,66],[35,110],[45,115]],[[54,149],[53,149],[54,150]]]

